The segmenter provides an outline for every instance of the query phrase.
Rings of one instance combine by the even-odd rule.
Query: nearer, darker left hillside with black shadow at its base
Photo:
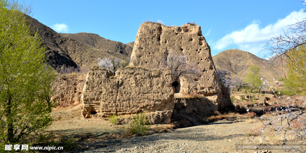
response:
[[[130,53],[126,52],[124,48],[119,47],[117,50],[111,50],[110,48],[112,47],[108,46],[108,44],[102,44],[97,48],[59,34],[32,17],[29,17],[29,21],[31,22],[31,28],[34,31],[38,30],[39,35],[42,37],[43,45],[47,48],[47,63],[53,67],[85,64],[93,66],[97,64],[97,58],[104,58],[106,56],[115,56],[120,59],[129,58]],[[120,44],[120,42],[118,42],[118,44]],[[103,45],[105,45],[105,47],[102,47]],[[121,46],[124,45],[125,44]],[[104,48],[105,50],[100,48]],[[127,50],[131,50],[129,46],[127,48]]]

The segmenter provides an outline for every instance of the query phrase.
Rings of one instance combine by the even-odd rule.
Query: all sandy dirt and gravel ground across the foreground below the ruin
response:
[[[236,149],[235,144],[281,144],[276,136],[262,140],[260,136],[253,138],[255,129],[262,123],[256,119],[224,119],[214,123],[179,128],[170,132],[154,133],[149,131],[146,136],[125,139],[112,139],[111,134],[127,131],[128,125],[111,126],[107,118],[86,119],[80,115],[82,104],[66,108],[56,108],[52,112],[54,121],[49,131],[67,136],[78,134],[93,135],[99,140],[83,141],[71,152],[254,152],[255,150]],[[161,126],[161,125],[154,125]],[[252,138],[252,139],[250,139]],[[77,141],[78,139],[76,139]],[[304,146],[306,147],[306,146]],[[262,150],[259,150],[262,152]],[[272,152],[280,152],[272,150]]]

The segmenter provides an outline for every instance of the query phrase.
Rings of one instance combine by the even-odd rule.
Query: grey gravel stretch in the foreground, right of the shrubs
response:
[[[218,121],[207,125],[176,129],[167,133],[139,136],[128,139],[115,139],[87,143],[88,150],[73,151],[78,153],[200,153],[200,152],[254,152],[236,150],[237,143],[254,143],[245,136],[244,131],[258,125],[244,120]],[[101,147],[104,146],[104,147]]]

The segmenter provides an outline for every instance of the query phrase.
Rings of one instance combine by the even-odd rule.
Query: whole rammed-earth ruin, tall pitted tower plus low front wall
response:
[[[166,58],[170,50],[187,54],[188,60],[201,70],[200,79],[195,80],[199,84],[197,92],[206,99],[202,102],[209,104],[201,105],[207,108],[197,109],[213,112],[232,105],[227,91],[222,90],[200,26],[169,27],[144,22],[137,32],[131,55],[131,67],[134,68],[118,69],[116,76],[105,69],[88,72],[81,96],[82,115],[106,117],[146,111],[152,123],[167,123],[175,103],[181,101],[174,99],[174,91],[186,93],[186,82],[181,80],[173,87],[170,71],[150,69],[158,64],[159,58]],[[197,103],[202,102],[197,100]],[[184,103],[190,105],[190,102]]]

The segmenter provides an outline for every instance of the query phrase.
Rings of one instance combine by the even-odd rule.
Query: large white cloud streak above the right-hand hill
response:
[[[288,25],[295,24],[297,20],[302,21],[306,17],[306,13],[302,11],[302,9],[299,12],[293,11],[287,17],[278,19],[276,23],[269,24],[264,28],[259,28],[259,21],[253,21],[252,24],[246,26],[244,29],[227,34],[216,43],[213,43],[213,48],[223,50],[230,45],[237,45],[240,50],[262,56],[262,53],[267,52],[262,50],[267,41],[270,40],[270,37],[283,34],[283,29],[286,30]]]

